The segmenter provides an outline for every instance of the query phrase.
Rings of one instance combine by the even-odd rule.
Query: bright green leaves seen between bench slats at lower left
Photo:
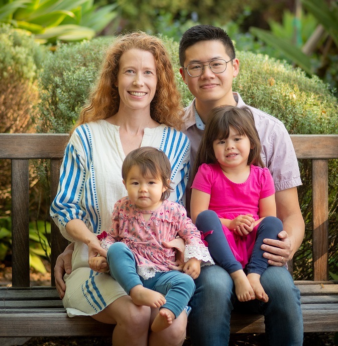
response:
[[[0,219],[0,261],[11,251],[12,246],[12,220],[11,218]],[[29,228],[29,259],[30,266],[41,272],[47,270],[41,258],[50,257],[50,224],[43,221],[30,223]]]

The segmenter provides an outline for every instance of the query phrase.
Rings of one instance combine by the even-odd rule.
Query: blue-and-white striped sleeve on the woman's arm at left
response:
[[[61,234],[69,241],[75,241],[66,231],[70,220],[80,219],[88,225],[88,217],[83,205],[86,175],[86,155],[76,141],[74,131],[64,153],[57,194],[50,207],[50,215],[60,229]]]

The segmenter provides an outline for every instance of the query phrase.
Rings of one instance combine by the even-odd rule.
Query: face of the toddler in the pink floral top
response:
[[[150,173],[143,176],[137,165],[132,166],[123,183],[130,200],[142,210],[157,209],[162,204],[162,193],[167,189],[158,177],[153,177]]]

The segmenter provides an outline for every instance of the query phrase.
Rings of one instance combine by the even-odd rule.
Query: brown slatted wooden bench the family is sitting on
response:
[[[304,331],[338,331],[338,282],[328,281],[327,221],[327,160],[338,158],[338,135],[291,135],[291,138],[297,157],[312,160],[314,281],[296,282],[301,292]],[[21,344],[19,337],[111,336],[112,326],[107,328],[107,325],[86,316],[67,317],[53,287],[53,272],[51,287],[30,285],[29,159],[51,160],[51,194],[55,196],[67,139],[66,134],[0,134],[0,159],[12,160],[13,258],[13,287],[0,288],[2,345]],[[51,228],[53,268],[67,241],[54,223]],[[264,317],[233,314],[231,331],[263,333]]]

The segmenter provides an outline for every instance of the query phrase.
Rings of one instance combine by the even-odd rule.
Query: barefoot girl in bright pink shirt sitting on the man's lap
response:
[[[268,301],[260,283],[268,267],[261,245],[283,230],[274,182],[260,153],[249,108],[211,111],[194,165],[191,218],[215,263],[231,275],[239,301]]]

